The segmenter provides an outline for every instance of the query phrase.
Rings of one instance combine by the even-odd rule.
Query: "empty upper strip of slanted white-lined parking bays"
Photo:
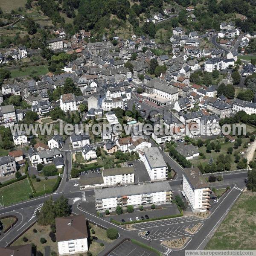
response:
[[[142,222],[142,223],[134,224],[133,227],[136,229],[149,229],[153,227],[181,224],[181,223],[186,223],[190,221],[202,221],[202,219],[197,216],[191,215],[186,217],[170,218],[170,219],[160,220],[160,221]]]

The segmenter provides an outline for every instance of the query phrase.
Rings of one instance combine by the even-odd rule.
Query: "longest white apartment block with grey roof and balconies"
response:
[[[96,210],[114,211],[117,205],[134,208],[147,204],[172,203],[172,188],[169,182],[147,183],[142,185],[119,186],[107,189],[96,189]]]

